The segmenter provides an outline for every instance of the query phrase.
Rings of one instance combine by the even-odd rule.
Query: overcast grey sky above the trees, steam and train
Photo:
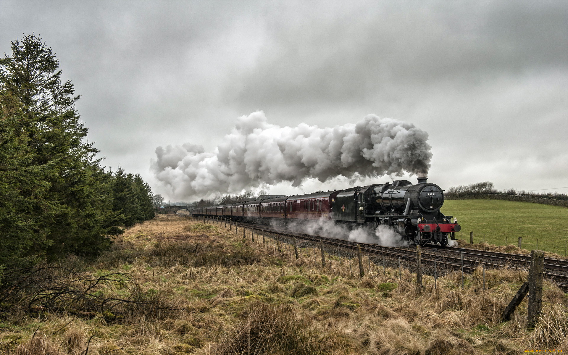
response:
[[[31,32],[82,95],[106,164],[158,193],[158,146],[211,151],[256,110],[279,126],[415,124],[444,189],[568,186],[565,0],[0,0],[0,52]],[[303,189],[320,187],[335,186]]]

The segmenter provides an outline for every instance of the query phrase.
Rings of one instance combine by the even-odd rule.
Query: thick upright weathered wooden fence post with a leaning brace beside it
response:
[[[534,329],[542,310],[542,273],[544,272],[544,252],[531,250],[531,266],[529,268],[529,307],[527,328]]]

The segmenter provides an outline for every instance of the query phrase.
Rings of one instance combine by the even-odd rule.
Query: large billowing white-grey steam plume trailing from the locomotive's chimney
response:
[[[213,152],[194,144],[156,149],[153,170],[178,198],[210,198],[262,183],[336,176],[426,174],[432,157],[428,133],[413,124],[368,115],[356,124],[279,127],[264,112],[237,119]]]

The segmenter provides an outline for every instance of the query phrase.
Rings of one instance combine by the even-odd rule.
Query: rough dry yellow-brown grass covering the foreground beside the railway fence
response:
[[[384,275],[374,269],[373,276],[367,270],[359,278],[345,259],[333,258],[322,269],[313,250],[302,250],[296,260],[289,245],[279,253],[268,238],[266,245],[259,236],[255,243],[250,235],[243,242],[233,231],[160,216],[131,228],[94,262],[65,261],[76,274],[62,282],[63,273],[57,285],[87,296],[47,302],[54,297],[53,282],[44,276],[38,285],[48,291],[31,306],[37,289],[8,298],[0,305],[0,351],[78,355],[87,346],[91,355],[568,351],[568,298],[548,282],[534,331],[525,330],[526,300],[511,321],[500,323],[524,272],[486,270],[486,291],[481,270],[466,275],[464,291],[458,273],[438,279],[437,289],[425,276],[418,295],[408,270],[402,281],[398,269],[389,268]],[[108,272],[121,273],[134,286],[105,281],[85,290],[75,282]],[[129,302],[110,309],[104,300],[113,298]]]

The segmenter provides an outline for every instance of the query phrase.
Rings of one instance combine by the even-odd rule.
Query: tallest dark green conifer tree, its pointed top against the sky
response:
[[[59,60],[39,37],[16,39],[11,49],[0,60],[0,82],[20,105],[13,134],[27,152],[26,165],[41,167],[48,184],[43,198],[49,207],[29,212],[37,234],[28,252],[96,253],[119,231],[108,214],[111,199],[98,151],[86,141],[87,128],[74,107],[80,97],[73,97],[70,81],[62,82]]]

